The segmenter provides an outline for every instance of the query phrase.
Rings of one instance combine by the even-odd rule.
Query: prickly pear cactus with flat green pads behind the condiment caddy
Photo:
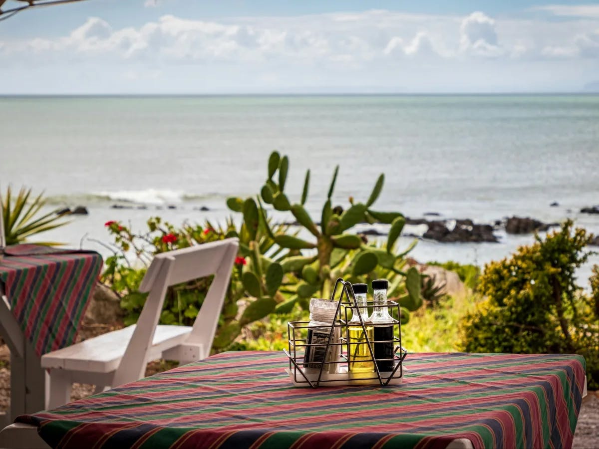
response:
[[[277,172],[278,176],[276,176]],[[304,208],[308,198],[310,170],[305,174],[301,201],[293,204],[285,193],[288,172],[289,158],[273,151],[268,159],[267,179],[256,201],[253,198],[227,200],[227,205],[232,211],[243,213],[242,229],[246,229],[251,240],[249,248],[242,249],[242,251],[249,251],[252,257],[252,263],[245,269],[255,275],[247,276],[247,285],[246,275],[244,275],[246,291],[260,298],[260,301],[265,297],[272,299],[272,301],[266,299],[262,301],[261,311],[265,315],[273,309],[286,312],[291,310],[296,302],[306,305],[311,296],[326,298],[330,295],[332,283],[337,277],[352,282],[364,281],[364,278],[372,280],[376,277],[386,277],[395,285],[394,293],[402,292],[398,295],[400,304],[409,311],[418,309],[422,305],[420,274],[416,269],[410,268],[407,272],[401,269],[404,265],[403,257],[413,248],[413,245],[399,254],[394,251],[395,243],[406,220],[398,212],[381,212],[372,209],[383,189],[385,175],[381,174],[377,178],[366,202],[354,202],[353,198],[350,198],[350,207],[341,210],[340,207],[332,208],[331,202],[339,172],[339,166],[336,166],[322,208],[321,220],[317,224]],[[262,202],[271,205],[277,211],[291,212],[299,225],[314,236],[315,241],[299,238],[297,234],[273,232]],[[347,232],[362,222],[391,225],[384,248],[365,244],[360,236]],[[272,260],[274,257],[272,255],[270,258],[258,257],[256,251],[250,250],[258,244],[254,240],[258,235],[268,236],[279,247],[278,253],[281,256],[276,262]],[[287,252],[283,254],[284,250]],[[304,254],[302,250],[316,250],[316,255]],[[276,270],[277,275],[274,277],[274,274],[271,274],[270,287],[266,284],[268,275],[264,277],[261,272],[261,266],[265,263],[269,268],[273,264],[276,267],[273,270]],[[283,285],[283,278],[287,278],[285,285]],[[287,295],[282,295],[280,291],[276,292],[274,286],[284,290]]]

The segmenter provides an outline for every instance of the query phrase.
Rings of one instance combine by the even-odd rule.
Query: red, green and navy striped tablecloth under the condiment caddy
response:
[[[285,356],[229,352],[24,415],[61,448],[570,447],[580,356],[409,354],[391,387],[293,387]]]

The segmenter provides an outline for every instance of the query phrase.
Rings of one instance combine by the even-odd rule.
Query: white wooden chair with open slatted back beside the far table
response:
[[[149,292],[137,324],[44,354],[49,369],[47,408],[69,402],[73,382],[96,392],[144,377],[155,359],[190,363],[210,355],[239,242],[237,238],[156,254],[141,282]],[[158,325],[167,287],[214,274],[198,316],[189,326]]]

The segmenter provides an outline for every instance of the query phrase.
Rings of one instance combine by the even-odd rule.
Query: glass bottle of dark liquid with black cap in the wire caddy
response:
[[[387,289],[389,282],[385,279],[373,281],[374,310],[370,321],[374,326],[374,360],[380,372],[393,371],[394,368],[394,319],[389,314],[387,305]]]

